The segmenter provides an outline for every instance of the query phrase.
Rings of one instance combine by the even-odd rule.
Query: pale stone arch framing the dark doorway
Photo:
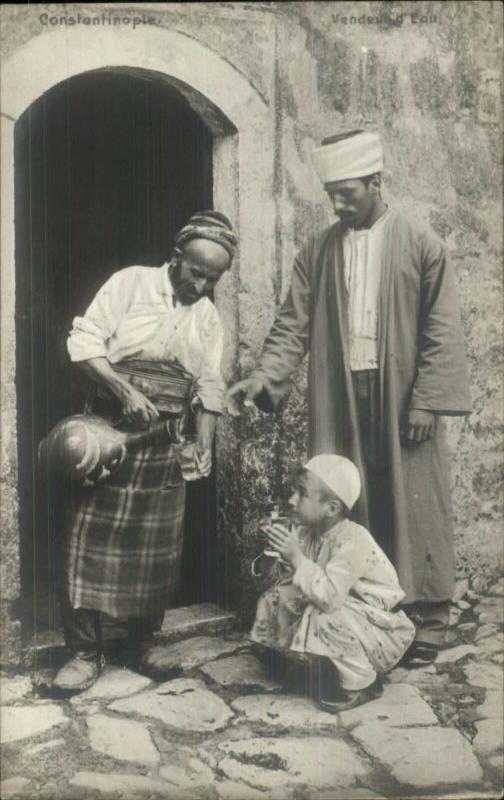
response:
[[[32,39],[5,62],[1,82],[2,249],[2,598],[0,624],[4,661],[20,655],[20,625],[11,607],[19,594],[17,420],[15,393],[14,126],[32,102],[56,84],[94,70],[155,76],[175,86],[214,134],[214,204],[233,221],[239,258],[219,285],[216,304],[227,332],[224,374],[240,354],[262,341],[274,307],[273,201],[274,114],[254,87],[228,62],[200,42],[164,29],[138,32],[58,29]],[[253,289],[253,291],[251,291]],[[263,321],[258,324],[258,321]],[[218,442],[219,495],[225,475],[236,472],[239,442],[224,422]],[[237,522],[226,535],[239,533]],[[238,500],[239,503],[239,500]],[[233,531],[229,528],[234,528]],[[232,549],[232,548],[231,548]]]

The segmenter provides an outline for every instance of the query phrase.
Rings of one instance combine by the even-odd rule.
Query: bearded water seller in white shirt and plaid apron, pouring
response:
[[[231,266],[236,237],[219,212],[195,214],[168,263],[128,267],[99,290],[68,339],[72,361],[92,379],[92,411],[142,430],[190,408],[199,474],[211,470],[224,384],[223,335],[206,296]],[[185,483],[170,445],[146,445],[108,482],[75,490],[64,531],[62,621],[70,660],[54,685],[82,691],[96,680],[103,615],[128,618],[138,658],[178,588]]]

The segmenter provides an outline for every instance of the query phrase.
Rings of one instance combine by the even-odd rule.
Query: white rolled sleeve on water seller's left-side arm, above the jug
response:
[[[74,317],[67,339],[72,361],[107,357],[108,341],[114,334],[124,306],[125,290],[121,273],[112,275],[101,287],[83,317]]]

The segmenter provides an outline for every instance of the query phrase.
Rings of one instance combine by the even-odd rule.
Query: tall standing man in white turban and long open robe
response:
[[[395,565],[417,623],[410,665],[444,641],[454,549],[441,417],[470,413],[453,272],[438,237],[381,196],[379,137],[325,139],[314,164],[338,217],[294,263],[256,369],[229,391],[276,407],[309,352],[311,456],[334,452],[363,476],[355,518]]]

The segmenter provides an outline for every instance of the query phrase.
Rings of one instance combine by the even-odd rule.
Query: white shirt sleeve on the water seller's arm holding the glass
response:
[[[203,357],[201,373],[196,379],[194,404],[201,403],[206,411],[222,414],[225,385],[221,375],[224,335],[219,313],[208,302],[202,320]]]

